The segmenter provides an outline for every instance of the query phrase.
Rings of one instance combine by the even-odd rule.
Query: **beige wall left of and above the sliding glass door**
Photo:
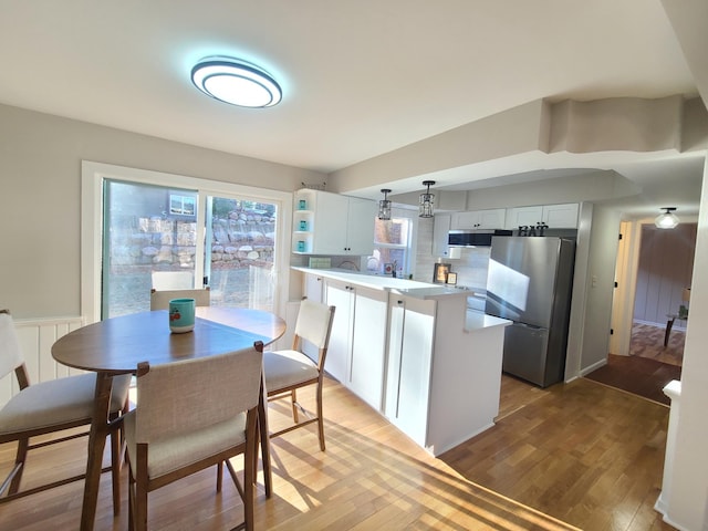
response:
[[[0,308],[80,314],[81,162],[293,191],[322,174],[0,105]]]

